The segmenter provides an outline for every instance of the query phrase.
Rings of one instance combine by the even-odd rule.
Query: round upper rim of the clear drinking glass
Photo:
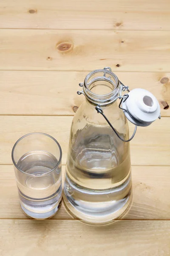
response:
[[[36,176],[36,175],[34,175],[34,174],[30,174],[30,173],[23,172],[23,170],[21,170],[21,169],[17,166],[17,163],[15,163],[15,161],[14,161],[14,149],[15,149],[16,145],[20,142],[20,140],[22,140],[23,138],[25,138],[25,137],[27,137],[27,136],[29,136],[29,135],[32,135],[32,134],[41,134],[41,135],[48,136],[48,137],[50,137],[52,140],[54,140],[54,142],[57,143],[57,145],[58,145],[58,147],[59,147],[60,156],[59,156],[59,160],[58,160],[56,166],[54,166],[54,168],[51,169],[49,172],[44,173],[44,174],[39,175],[39,176]],[[51,135],[45,134],[45,133],[42,133],[42,132],[32,132],[32,133],[23,135],[22,137],[20,137],[20,139],[18,139],[18,140],[16,141],[16,143],[14,144],[14,146],[13,146],[13,148],[12,148],[11,157],[12,157],[12,162],[13,162],[14,166],[15,166],[20,172],[23,172],[25,175],[32,176],[32,177],[42,177],[42,176],[48,175],[49,173],[53,172],[53,171],[57,168],[57,166],[59,166],[59,164],[60,164],[60,162],[61,162],[61,159],[62,159],[62,149],[61,149],[61,146],[59,145],[58,141],[57,141],[56,139],[54,139],[54,137],[52,137]]]

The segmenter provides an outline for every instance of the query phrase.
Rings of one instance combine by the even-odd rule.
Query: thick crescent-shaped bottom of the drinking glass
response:
[[[62,199],[59,201],[59,204],[52,210],[50,210],[49,212],[32,212],[28,209],[26,209],[26,207],[24,207],[22,204],[20,204],[21,206],[21,209],[23,210],[23,212],[28,216],[28,217],[31,217],[31,218],[34,218],[34,219],[46,219],[46,218],[51,218],[53,215],[56,214],[56,212],[58,211],[58,209],[60,208],[61,206],[61,203],[62,203]]]

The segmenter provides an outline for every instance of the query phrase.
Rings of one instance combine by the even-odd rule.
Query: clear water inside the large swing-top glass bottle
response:
[[[113,135],[110,129],[86,127],[75,136],[68,155],[65,206],[74,217],[90,224],[112,222],[131,203],[129,145]]]

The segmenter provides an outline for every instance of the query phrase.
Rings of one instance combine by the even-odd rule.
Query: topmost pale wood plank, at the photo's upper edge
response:
[[[170,2],[0,1],[0,28],[170,30]]]

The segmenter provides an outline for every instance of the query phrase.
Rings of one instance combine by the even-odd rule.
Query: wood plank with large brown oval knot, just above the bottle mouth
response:
[[[1,29],[0,42],[0,70],[169,72],[169,31]]]

